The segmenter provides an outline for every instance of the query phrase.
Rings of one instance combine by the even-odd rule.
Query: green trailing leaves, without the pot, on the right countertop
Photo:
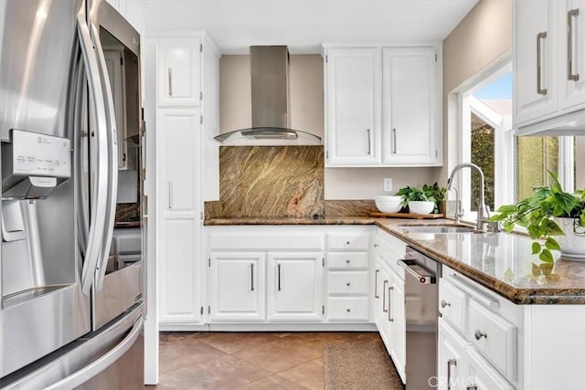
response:
[[[560,250],[554,236],[565,233],[553,219],[554,217],[574,218],[575,227],[585,227],[585,190],[569,194],[563,191],[557,174],[548,171],[551,184],[534,188],[533,195],[516,203],[497,209],[490,221],[502,222],[505,230],[511,232],[514,227],[526,227],[528,235],[535,241],[532,253],[540,260],[552,263],[551,250]],[[543,239],[544,243],[539,241]]]

